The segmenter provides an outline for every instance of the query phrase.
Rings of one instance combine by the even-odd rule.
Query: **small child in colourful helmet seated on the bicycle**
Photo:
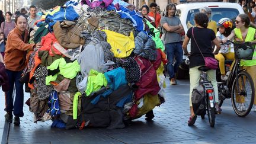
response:
[[[226,39],[226,37],[231,34],[232,21],[229,18],[222,18],[219,20],[217,25],[219,26],[219,31],[217,31],[216,37],[217,40],[222,43],[222,39]],[[223,81],[228,79],[225,72],[225,58],[229,60],[233,60],[235,58],[235,54],[231,52],[231,44],[222,45],[219,53],[215,55],[215,59],[219,60],[221,79]]]

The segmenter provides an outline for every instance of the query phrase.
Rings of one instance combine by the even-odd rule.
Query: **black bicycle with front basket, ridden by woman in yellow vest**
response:
[[[255,43],[228,41],[225,44],[234,45],[235,64],[233,65],[227,81],[217,82],[219,92],[219,107],[226,98],[231,98],[232,107],[239,117],[245,117],[251,111],[254,102],[254,83],[245,69],[240,68],[241,59],[252,59]],[[241,52],[245,56],[241,55]],[[246,53],[245,53],[246,52]]]

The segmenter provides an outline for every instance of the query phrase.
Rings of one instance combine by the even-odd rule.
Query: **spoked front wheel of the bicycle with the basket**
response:
[[[251,111],[254,102],[254,83],[247,72],[236,76],[231,92],[232,107],[239,117],[245,117]]]

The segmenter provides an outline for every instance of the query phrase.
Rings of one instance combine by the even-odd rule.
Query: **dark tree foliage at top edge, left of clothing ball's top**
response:
[[[66,1],[68,0],[31,0],[31,5],[36,5],[37,8],[47,10],[57,5],[62,6]]]

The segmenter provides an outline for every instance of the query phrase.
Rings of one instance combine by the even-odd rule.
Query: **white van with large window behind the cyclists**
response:
[[[184,27],[185,33],[187,33],[188,28],[193,27],[194,25],[194,15],[199,12],[200,8],[209,7],[212,9],[211,20],[216,21],[216,23],[221,18],[230,18],[235,20],[238,14],[244,14],[244,11],[241,5],[236,3],[229,2],[193,2],[188,4],[177,5],[176,15],[180,18],[181,24]],[[187,46],[188,52],[190,52],[190,42]],[[185,59],[185,57],[183,57]],[[183,72],[186,71],[186,72]],[[184,63],[181,64],[180,69],[176,75],[177,79],[187,78],[186,75],[188,71],[188,66],[185,66]]]

